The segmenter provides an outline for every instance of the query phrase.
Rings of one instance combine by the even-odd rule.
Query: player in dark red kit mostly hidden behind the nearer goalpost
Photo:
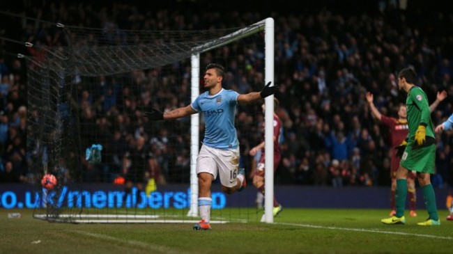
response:
[[[278,108],[279,105],[279,100],[274,97],[274,111],[275,109]],[[263,112],[264,112],[264,104],[262,106]],[[263,134],[264,134],[264,122],[263,122]],[[280,139],[280,132],[282,129],[282,120],[277,116],[276,113],[274,113],[274,173],[275,170],[277,170],[277,167],[280,164],[280,159],[282,158],[282,155],[280,153],[280,145],[279,145],[279,139]],[[261,158],[259,160],[258,165],[256,165],[256,169],[254,172],[252,172],[253,175],[253,185],[263,193],[264,195],[264,137],[263,141],[259,143],[259,145],[256,145],[254,148],[250,149],[249,154],[252,156],[255,156],[256,153],[261,151]],[[277,200],[275,199],[274,196],[274,208],[272,209],[272,213],[274,216],[277,216],[280,212],[282,212],[282,205],[280,205]],[[264,219],[264,215],[263,215]],[[263,221],[261,219],[261,221]]]

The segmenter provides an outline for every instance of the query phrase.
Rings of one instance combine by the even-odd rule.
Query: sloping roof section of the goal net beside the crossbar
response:
[[[70,47],[49,51],[66,65],[54,67],[73,68],[82,76],[98,76],[169,65],[256,33],[262,26],[201,31],[125,31],[77,26],[63,29],[70,38]]]

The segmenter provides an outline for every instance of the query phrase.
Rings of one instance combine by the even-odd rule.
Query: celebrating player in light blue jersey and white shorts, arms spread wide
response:
[[[205,136],[197,159],[199,184],[198,207],[201,221],[194,230],[210,230],[210,208],[212,198],[210,186],[220,175],[224,193],[242,191],[246,186],[245,169],[239,168],[239,143],[234,118],[236,106],[261,100],[273,95],[278,86],[268,82],[261,92],[240,95],[236,91],[222,88],[225,70],[222,65],[210,63],[204,74],[206,92],[190,105],[162,113],[157,109],[144,113],[150,120],[183,118],[194,113],[202,113],[205,118]]]

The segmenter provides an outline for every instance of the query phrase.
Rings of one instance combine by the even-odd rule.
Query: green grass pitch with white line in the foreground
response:
[[[224,209],[222,214],[236,214]],[[245,209],[247,211],[247,209]],[[249,209],[251,210],[251,209]],[[20,218],[8,219],[8,213]],[[274,223],[49,223],[29,209],[0,209],[0,253],[452,253],[453,221],[440,209],[440,226],[384,225],[387,209],[289,209]],[[241,215],[243,216],[243,214]],[[232,218],[233,219],[233,218]]]

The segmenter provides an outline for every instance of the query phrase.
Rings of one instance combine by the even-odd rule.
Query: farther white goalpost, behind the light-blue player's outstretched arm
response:
[[[194,102],[200,94],[200,54],[193,54],[190,57],[191,70],[191,98]],[[199,153],[199,114],[190,116],[190,210],[187,216],[198,216],[198,177],[197,177],[197,157]]]

